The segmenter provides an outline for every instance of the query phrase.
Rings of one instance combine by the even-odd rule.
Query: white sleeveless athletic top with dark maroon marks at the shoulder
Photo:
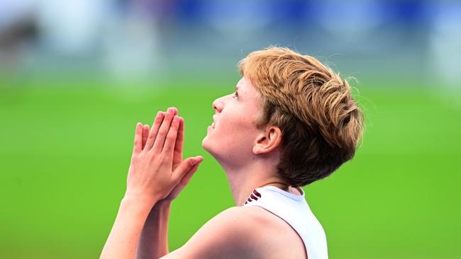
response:
[[[243,206],[262,207],[277,215],[299,234],[309,259],[328,259],[325,231],[307,205],[304,190],[296,189],[302,195],[295,195],[274,186],[256,188]]]

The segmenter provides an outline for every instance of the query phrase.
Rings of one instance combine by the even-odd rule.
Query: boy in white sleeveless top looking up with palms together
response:
[[[287,48],[252,52],[236,91],[213,102],[202,146],[221,164],[236,203],[168,253],[170,203],[203,160],[182,160],[184,120],[138,123],[126,195],[101,258],[328,258],[302,186],[352,159],[363,116],[347,81]],[[164,256],[165,255],[165,256]]]

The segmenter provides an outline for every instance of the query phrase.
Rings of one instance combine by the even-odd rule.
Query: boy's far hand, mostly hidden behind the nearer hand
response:
[[[174,111],[174,115],[178,115],[177,108],[172,108]],[[164,113],[165,115],[166,113]],[[148,140],[149,134],[149,125],[143,126],[143,147]],[[173,152],[173,170],[179,166],[179,163],[182,162],[182,150],[184,144],[184,119],[179,117],[179,129],[177,133],[176,143],[174,144],[174,152]],[[179,183],[173,188],[170,194],[159,202],[172,202],[172,200],[176,199],[180,192],[186,187],[186,185],[191,180],[192,175],[197,171],[199,168],[200,163],[196,163],[192,168],[184,175],[184,177],[179,180]]]

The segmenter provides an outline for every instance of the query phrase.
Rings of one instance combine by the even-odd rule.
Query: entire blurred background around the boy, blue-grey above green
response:
[[[135,124],[170,106],[184,155],[204,156],[173,202],[170,251],[235,206],[201,140],[235,64],[269,45],[357,79],[362,144],[304,187],[330,258],[461,258],[461,4],[245,3],[0,1],[0,258],[97,258]]]

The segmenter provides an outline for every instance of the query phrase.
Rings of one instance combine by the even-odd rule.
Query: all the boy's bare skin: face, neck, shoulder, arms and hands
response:
[[[215,127],[202,142],[221,164],[236,207],[206,222],[181,248],[168,253],[167,224],[172,200],[203,160],[182,159],[184,119],[176,108],[159,112],[152,128],[138,124],[127,190],[101,258],[306,258],[294,229],[261,207],[243,207],[255,188],[266,185],[299,195],[278,177],[282,134],[257,129],[259,92],[240,79],[237,93],[213,102]],[[280,238],[283,236],[283,238]]]

